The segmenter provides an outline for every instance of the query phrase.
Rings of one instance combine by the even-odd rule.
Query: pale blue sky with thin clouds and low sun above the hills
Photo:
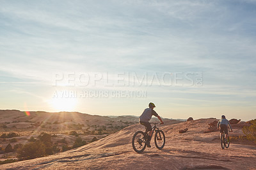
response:
[[[0,109],[256,118],[256,1],[0,3]]]

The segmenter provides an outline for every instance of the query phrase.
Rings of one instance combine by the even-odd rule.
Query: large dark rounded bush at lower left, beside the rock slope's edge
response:
[[[45,144],[40,141],[25,144],[22,148],[17,150],[17,153],[17,157],[22,160],[44,157],[47,155],[45,151]]]

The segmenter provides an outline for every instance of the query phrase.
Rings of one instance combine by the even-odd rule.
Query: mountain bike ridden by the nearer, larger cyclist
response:
[[[154,137],[156,148],[161,150],[164,148],[165,135],[163,130],[159,130],[159,128],[156,127],[157,124],[161,124],[161,123],[152,123],[152,124],[154,124],[152,128],[153,130],[152,136],[154,132],[156,132]],[[136,151],[137,153],[143,152],[146,148],[147,139],[148,139],[147,129],[145,132],[142,132],[142,131],[136,132],[132,137],[132,148],[134,149],[134,151]]]

